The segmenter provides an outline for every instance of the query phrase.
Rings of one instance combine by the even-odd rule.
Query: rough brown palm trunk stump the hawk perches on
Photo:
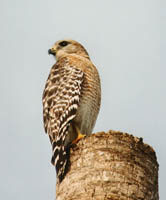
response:
[[[71,149],[71,167],[56,200],[158,200],[158,163],[142,138],[96,133]]]

